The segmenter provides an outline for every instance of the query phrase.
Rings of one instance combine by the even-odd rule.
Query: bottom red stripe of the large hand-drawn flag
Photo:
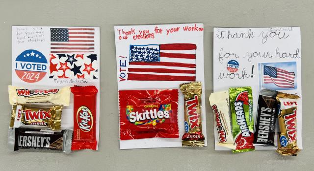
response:
[[[128,74],[128,80],[137,81],[195,81],[194,76]]]

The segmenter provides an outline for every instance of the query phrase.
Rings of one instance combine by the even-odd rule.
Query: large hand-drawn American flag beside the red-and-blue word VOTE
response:
[[[128,80],[195,81],[196,44],[130,45]]]

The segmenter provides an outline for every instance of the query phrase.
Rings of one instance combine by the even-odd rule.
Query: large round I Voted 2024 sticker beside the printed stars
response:
[[[25,50],[15,60],[15,72],[27,83],[38,82],[47,73],[47,59],[37,50]]]

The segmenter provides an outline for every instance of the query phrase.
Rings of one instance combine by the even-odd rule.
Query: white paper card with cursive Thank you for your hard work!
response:
[[[254,120],[261,88],[297,94],[297,145],[302,149],[301,37],[300,27],[214,28],[213,91],[252,86]],[[276,70],[276,73],[271,72]],[[280,71],[293,75],[280,77]],[[293,78],[294,77],[294,78]],[[255,122],[254,122],[255,125]],[[275,145],[277,145],[277,131]],[[218,133],[215,130],[215,144]],[[255,147],[275,150],[276,147]],[[215,150],[229,150],[215,145]]]

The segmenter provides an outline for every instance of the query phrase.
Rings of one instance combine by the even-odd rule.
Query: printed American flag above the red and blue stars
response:
[[[50,28],[50,53],[93,53],[94,28]]]

